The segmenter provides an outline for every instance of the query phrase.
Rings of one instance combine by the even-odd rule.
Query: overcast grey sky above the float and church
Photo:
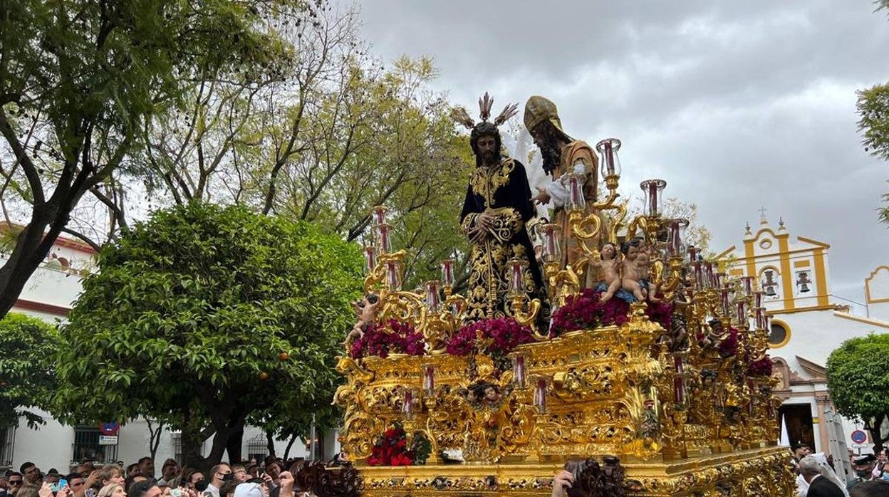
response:
[[[869,0],[363,0],[383,60],[433,58],[436,87],[495,108],[533,94],[565,131],[623,141],[622,189],[667,180],[719,252],[761,206],[831,244],[832,293],[861,301],[889,264],[877,221],[889,164],[856,132],[855,90],[889,80],[889,18]]]

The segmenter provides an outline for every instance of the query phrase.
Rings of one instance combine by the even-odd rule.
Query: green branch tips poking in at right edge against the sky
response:
[[[877,10],[889,10],[889,0],[877,0]],[[858,93],[858,131],[861,143],[870,155],[889,161],[889,83],[875,84]],[[883,195],[889,203],[889,193]],[[889,206],[877,209],[880,220],[889,224]]]

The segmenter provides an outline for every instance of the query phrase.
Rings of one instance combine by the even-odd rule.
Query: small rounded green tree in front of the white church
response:
[[[864,428],[877,445],[889,416],[889,334],[870,334],[843,342],[828,357],[827,379],[830,399],[837,413],[864,421]]]

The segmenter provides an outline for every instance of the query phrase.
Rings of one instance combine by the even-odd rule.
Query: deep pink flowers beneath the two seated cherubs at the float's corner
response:
[[[552,336],[597,326],[621,326],[627,322],[629,303],[619,298],[602,302],[602,292],[585,288],[580,295],[572,295],[565,305],[553,314]],[[645,314],[669,330],[673,306],[665,302],[647,302]]]

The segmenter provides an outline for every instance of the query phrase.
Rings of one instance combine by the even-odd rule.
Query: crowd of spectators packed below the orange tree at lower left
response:
[[[33,462],[25,462],[19,471],[11,469],[0,476],[0,497],[308,496],[294,485],[293,474],[301,460],[288,462],[268,457],[260,464],[220,463],[204,474],[168,459],[159,477],[155,477],[155,463],[148,456],[125,469],[123,464],[96,467],[92,461],[84,461],[68,474],[57,469],[44,473]]]

